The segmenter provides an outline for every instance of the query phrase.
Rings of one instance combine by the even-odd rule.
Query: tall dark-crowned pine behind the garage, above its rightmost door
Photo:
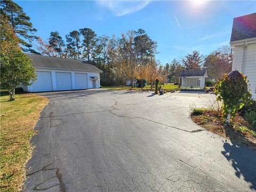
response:
[[[92,54],[95,52],[97,44],[97,34],[90,28],[79,29],[81,35],[83,36],[82,45],[84,49],[84,58],[87,58],[87,61],[90,62]]]

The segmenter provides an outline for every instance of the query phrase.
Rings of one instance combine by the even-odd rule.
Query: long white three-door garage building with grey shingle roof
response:
[[[32,85],[20,85],[24,91],[82,90],[100,87],[97,67],[85,61],[27,54],[33,60],[37,81]]]

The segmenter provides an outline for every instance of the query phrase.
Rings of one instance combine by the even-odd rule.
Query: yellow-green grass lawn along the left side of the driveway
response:
[[[16,94],[15,101],[10,102],[8,93],[1,91],[0,103],[0,191],[21,191],[26,178],[25,165],[33,149],[29,141],[48,99],[23,93]]]

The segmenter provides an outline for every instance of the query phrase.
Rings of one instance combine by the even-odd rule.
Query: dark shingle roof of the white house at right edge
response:
[[[234,18],[230,42],[256,37],[256,13]]]

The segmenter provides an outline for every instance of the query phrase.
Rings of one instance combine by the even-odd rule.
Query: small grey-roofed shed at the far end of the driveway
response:
[[[182,71],[179,76],[181,87],[200,87],[205,86],[205,77],[208,77],[206,69]]]

